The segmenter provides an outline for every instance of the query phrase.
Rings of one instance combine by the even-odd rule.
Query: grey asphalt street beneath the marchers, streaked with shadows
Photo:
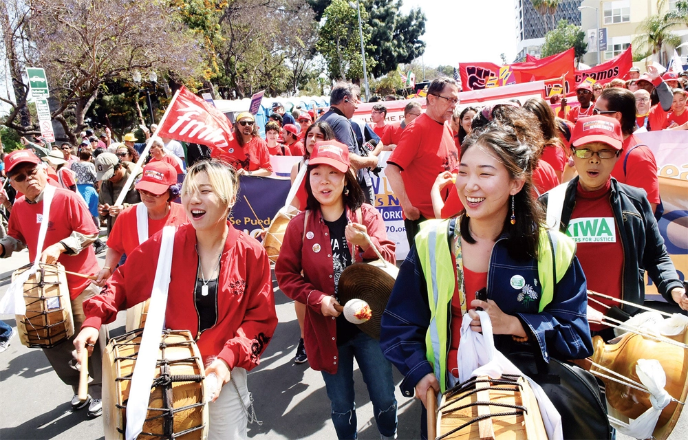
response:
[[[28,263],[26,251],[0,260],[0,297],[10,283],[12,271]],[[101,265],[103,257],[100,258]],[[294,364],[299,342],[299,325],[293,302],[277,284],[275,302],[279,324],[275,336],[261,358],[261,364],[248,375],[257,418],[262,422],[248,427],[252,439],[336,439],[330,421],[330,401],[319,372],[308,363]],[[14,316],[1,316],[14,326]],[[110,326],[111,336],[124,332],[125,315]],[[398,385],[402,376],[394,369]],[[360,439],[379,439],[363,377],[355,369],[356,415]],[[420,402],[402,397],[398,401],[399,439],[420,438]],[[88,419],[85,410],[69,405],[71,387],[63,384],[39,349],[28,349],[14,338],[10,348],[0,354],[0,440],[15,439],[103,439],[103,418]],[[566,426],[564,427],[566,430]],[[619,440],[631,437],[617,435]],[[669,440],[688,438],[688,411],[682,414]]]

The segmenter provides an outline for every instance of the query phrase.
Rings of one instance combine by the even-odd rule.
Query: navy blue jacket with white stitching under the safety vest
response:
[[[453,230],[452,225],[450,231]],[[451,236],[449,242],[451,243]],[[512,259],[506,250],[506,235],[502,235],[493,247],[489,267],[488,299],[495,301],[504,313],[519,318],[529,339],[537,341],[546,362],[550,356],[568,360],[592,355],[587,318],[587,284],[577,258],[574,257],[568,271],[557,284],[552,302],[541,313],[538,313],[538,301],[519,302],[517,297],[520,290],[510,285],[512,276],[523,276],[526,283],[537,292],[537,298],[541,298],[541,283],[538,281],[536,285],[534,282],[538,279],[535,259]],[[380,330],[380,348],[383,349],[385,358],[404,375],[400,388],[407,397],[413,396],[416,384],[422,377],[433,373],[433,368],[426,359],[425,347],[429,324],[427,284],[414,245],[399,270]],[[447,327],[447,337],[451,339],[450,322]],[[505,344],[517,343],[510,337],[495,336],[497,349],[504,350]]]

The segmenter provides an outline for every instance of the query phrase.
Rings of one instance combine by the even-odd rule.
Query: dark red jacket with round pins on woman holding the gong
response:
[[[275,276],[279,288],[286,296],[308,306],[303,322],[303,342],[310,367],[316,371],[335,374],[338,368],[336,322],[332,316],[323,316],[320,310],[323,298],[334,296],[330,229],[323,221],[320,210],[311,211],[304,234],[304,215],[305,212],[301,212],[287,225],[275,265]],[[361,223],[367,228],[380,254],[394,264],[396,245],[387,239],[380,212],[364,204],[361,206],[361,217]],[[356,213],[347,210],[347,219],[356,222]],[[349,243],[349,250],[355,261],[377,259],[372,248],[360,252],[361,249],[356,246],[354,252],[354,245]]]

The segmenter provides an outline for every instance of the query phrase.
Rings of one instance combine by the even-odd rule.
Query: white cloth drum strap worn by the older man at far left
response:
[[[52,196],[55,194],[55,187],[46,185],[43,190],[43,214],[40,219],[36,219],[41,223],[39,228],[39,241],[36,245],[36,259],[34,265],[29,270],[25,270],[21,275],[14,278],[14,281],[7,289],[7,293],[0,301],[0,312],[7,315],[25,315],[26,303],[24,302],[24,283],[28,281],[30,276],[36,273],[41,262],[41,254],[43,253],[43,242],[45,241],[45,234],[47,234],[48,219],[50,219],[50,205],[52,204]],[[26,219],[25,221],[33,221],[33,219]]]

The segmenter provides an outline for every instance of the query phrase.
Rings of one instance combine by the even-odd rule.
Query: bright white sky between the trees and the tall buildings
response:
[[[514,0],[403,0],[402,12],[425,12],[425,65],[511,63],[516,52]]]

